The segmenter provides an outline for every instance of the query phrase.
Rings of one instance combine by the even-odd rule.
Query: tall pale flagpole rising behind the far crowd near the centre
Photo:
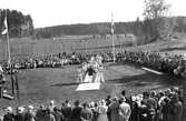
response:
[[[111,41],[112,41],[112,61],[115,62],[115,60],[116,60],[116,57],[115,57],[115,29],[114,29],[112,12],[111,12]]]

